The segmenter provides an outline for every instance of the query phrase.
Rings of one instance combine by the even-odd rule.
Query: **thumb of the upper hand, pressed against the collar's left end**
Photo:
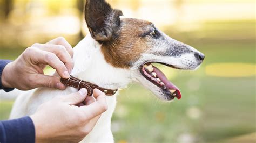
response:
[[[38,79],[37,87],[65,89],[65,85],[60,82],[59,77],[39,74],[36,78]]]

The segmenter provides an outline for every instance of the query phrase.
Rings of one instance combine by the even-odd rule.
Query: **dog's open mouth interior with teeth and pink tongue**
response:
[[[160,63],[165,66],[169,66],[172,68],[171,65],[166,65],[164,63]],[[181,98],[181,92],[179,88],[177,88],[173,83],[171,83],[165,74],[158,69],[157,67],[154,67],[151,63],[144,63],[140,67],[140,73],[151,83],[154,85],[157,85],[161,90],[163,90],[164,94],[169,96],[170,99],[174,99],[176,97],[177,99]]]

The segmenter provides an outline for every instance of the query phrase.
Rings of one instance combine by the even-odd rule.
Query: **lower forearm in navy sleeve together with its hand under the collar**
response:
[[[81,89],[43,103],[30,117],[0,121],[0,142],[81,141],[107,110],[102,91],[93,90],[93,97]]]

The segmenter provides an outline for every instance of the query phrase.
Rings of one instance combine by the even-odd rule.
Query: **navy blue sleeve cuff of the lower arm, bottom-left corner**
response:
[[[35,142],[35,127],[29,116],[0,121],[0,142]]]

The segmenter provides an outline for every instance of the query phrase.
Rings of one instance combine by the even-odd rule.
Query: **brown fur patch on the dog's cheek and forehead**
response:
[[[130,68],[148,48],[142,35],[150,30],[151,24],[146,20],[121,19],[118,38],[102,45],[106,62],[117,68]]]

